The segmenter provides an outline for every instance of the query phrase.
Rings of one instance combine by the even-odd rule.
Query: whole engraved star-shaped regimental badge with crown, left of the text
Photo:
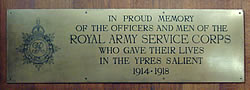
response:
[[[53,44],[54,33],[45,34],[40,19],[37,19],[31,33],[22,34],[23,44],[16,49],[23,55],[23,64],[33,64],[38,71],[43,64],[54,64],[53,54],[59,48]]]

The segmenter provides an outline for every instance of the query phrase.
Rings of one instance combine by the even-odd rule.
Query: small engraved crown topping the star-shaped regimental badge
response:
[[[36,26],[32,29],[32,34],[39,36],[43,35],[45,32],[44,28],[40,25],[40,19],[36,20]]]

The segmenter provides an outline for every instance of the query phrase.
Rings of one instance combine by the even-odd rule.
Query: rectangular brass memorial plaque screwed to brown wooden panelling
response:
[[[10,9],[7,82],[244,82],[244,13]]]

